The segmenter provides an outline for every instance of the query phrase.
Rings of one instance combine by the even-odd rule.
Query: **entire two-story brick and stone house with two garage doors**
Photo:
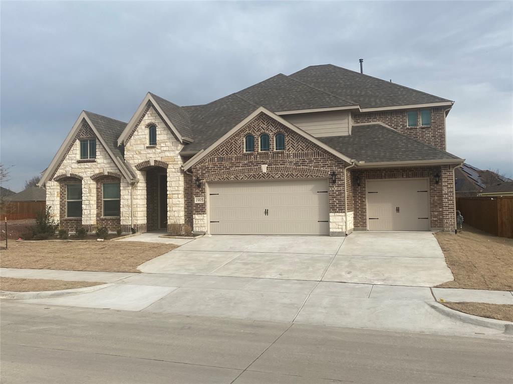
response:
[[[83,111],[43,173],[61,227],[211,234],[455,228],[453,101],[333,65],[204,105]]]

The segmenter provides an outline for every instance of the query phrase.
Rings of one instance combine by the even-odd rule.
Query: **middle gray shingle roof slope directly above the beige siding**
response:
[[[272,112],[353,105],[282,73],[239,91],[236,95],[255,107],[264,106]]]

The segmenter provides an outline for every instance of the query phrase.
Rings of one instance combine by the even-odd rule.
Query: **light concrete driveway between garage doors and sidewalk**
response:
[[[142,264],[146,273],[433,286],[452,280],[429,232],[210,236]]]

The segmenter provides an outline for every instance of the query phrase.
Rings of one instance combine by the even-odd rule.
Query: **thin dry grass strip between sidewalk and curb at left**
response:
[[[64,281],[46,279],[14,279],[0,278],[0,289],[13,292],[60,291],[61,289],[74,289],[92,287],[105,283],[90,281]]]

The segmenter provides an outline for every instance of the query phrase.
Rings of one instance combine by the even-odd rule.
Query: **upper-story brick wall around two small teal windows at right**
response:
[[[420,110],[418,110],[420,111]],[[422,141],[445,151],[445,112],[442,108],[431,108],[431,125],[420,126],[420,112],[417,113],[418,126],[408,127],[405,110],[379,111],[353,114],[354,124],[382,122],[404,135]]]

